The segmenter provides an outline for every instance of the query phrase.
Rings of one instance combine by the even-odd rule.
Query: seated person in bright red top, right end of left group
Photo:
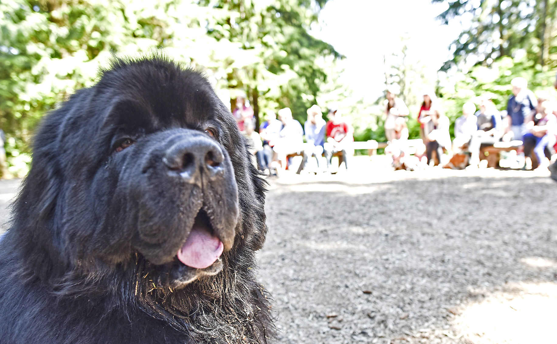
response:
[[[343,119],[340,111],[336,108],[329,109],[327,117],[329,122],[326,125],[327,140],[324,144],[327,169],[331,172],[333,154],[338,152],[343,154],[344,167],[348,169],[348,154],[351,153],[349,145],[354,142],[354,129]]]

